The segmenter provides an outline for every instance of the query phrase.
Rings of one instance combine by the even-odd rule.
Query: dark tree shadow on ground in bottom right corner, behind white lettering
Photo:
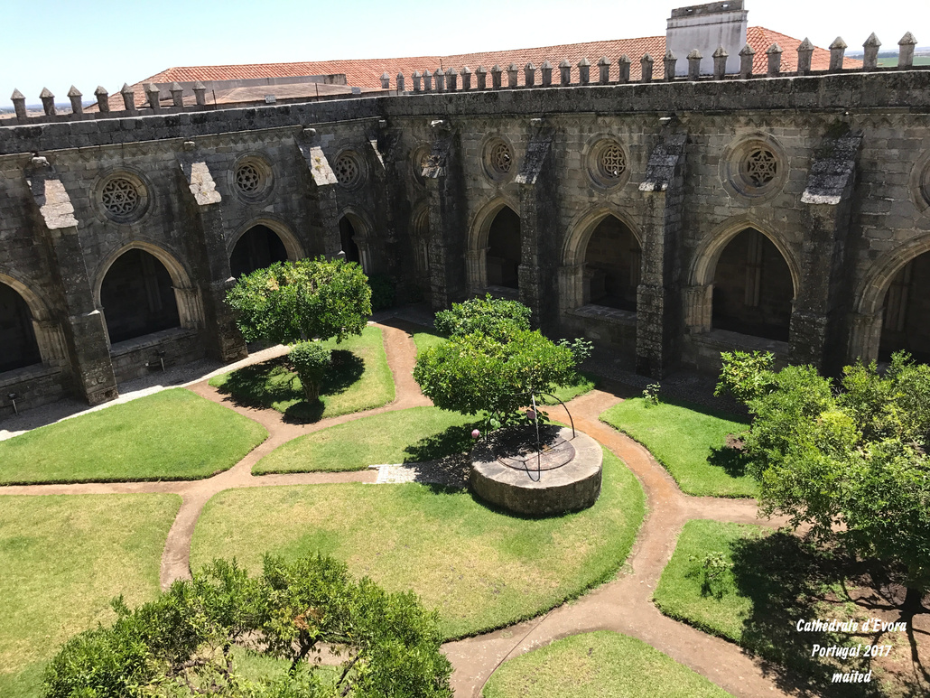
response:
[[[831,682],[834,672],[868,672],[872,668],[869,658],[812,656],[815,644],[868,645],[876,641],[873,636],[797,630],[800,620],[849,617],[861,621],[868,617],[864,609],[851,606],[843,592],[844,579],[862,574],[860,563],[842,555],[817,554],[784,532],[740,539],[732,545],[731,555],[737,592],[752,601],[751,614],[742,628],[742,644],[764,659],[764,672],[773,676],[780,688],[800,695],[837,698],[886,695],[875,678],[870,683]]]

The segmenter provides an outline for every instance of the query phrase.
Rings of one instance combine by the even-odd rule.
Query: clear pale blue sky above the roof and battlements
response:
[[[19,87],[93,99],[173,65],[443,55],[665,34],[686,0],[0,0],[0,103]],[[930,0],[746,0],[750,25],[826,47],[907,31],[930,46]],[[596,58],[596,57],[591,57]]]

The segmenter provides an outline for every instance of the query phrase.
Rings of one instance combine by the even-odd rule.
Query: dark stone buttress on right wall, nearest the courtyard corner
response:
[[[499,79],[499,73],[498,73]],[[435,310],[449,307],[466,297],[465,183],[461,167],[461,145],[444,120],[432,124],[430,161],[423,169],[429,192],[430,282]]]

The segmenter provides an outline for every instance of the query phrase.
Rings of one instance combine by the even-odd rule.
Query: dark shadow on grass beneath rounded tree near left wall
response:
[[[352,352],[336,349],[332,356],[332,367],[320,384],[323,398],[345,393],[365,373],[365,362]],[[286,356],[235,370],[218,390],[245,407],[275,409],[277,405],[280,409],[286,405],[283,411],[287,423],[318,422],[326,409],[324,400],[304,399],[297,374],[291,370]]]

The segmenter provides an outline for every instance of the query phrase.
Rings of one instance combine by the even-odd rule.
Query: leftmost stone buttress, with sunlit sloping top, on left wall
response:
[[[26,179],[38,214],[35,233],[45,241],[55,290],[63,302],[61,324],[77,390],[90,405],[99,405],[119,392],[71,198],[44,157],[33,157]]]

